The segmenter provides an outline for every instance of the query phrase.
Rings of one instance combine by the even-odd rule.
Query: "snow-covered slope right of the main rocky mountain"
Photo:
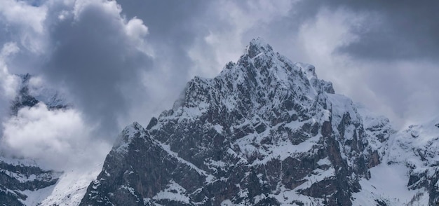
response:
[[[372,115],[371,111],[358,111],[363,116]],[[355,205],[437,205],[439,118],[399,132],[391,129],[389,121],[383,121],[386,118],[374,119],[370,123],[364,121],[365,125],[381,125],[390,132],[384,132],[389,140],[381,142],[382,163],[370,170],[372,178],[360,181],[363,189],[354,195]]]

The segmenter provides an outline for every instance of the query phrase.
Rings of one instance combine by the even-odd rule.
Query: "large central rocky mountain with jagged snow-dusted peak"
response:
[[[254,39],[147,128],[123,130],[80,205],[351,205],[389,139],[374,120]]]

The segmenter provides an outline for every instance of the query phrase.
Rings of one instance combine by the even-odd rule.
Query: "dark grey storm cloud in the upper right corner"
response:
[[[439,59],[439,1],[299,1],[289,15],[270,22],[264,35],[273,36],[273,44],[283,41],[316,18],[322,8],[367,15],[349,31],[358,41],[337,48],[339,53],[364,60]],[[255,30],[245,36],[255,35]]]

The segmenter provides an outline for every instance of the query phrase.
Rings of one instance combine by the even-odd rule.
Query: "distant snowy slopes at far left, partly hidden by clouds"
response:
[[[35,76],[25,74],[15,77],[20,85],[18,95],[11,102],[11,118],[18,118],[20,109],[39,104],[49,110],[72,107],[61,92],[35,83],[38,81]],[[55,171],[41,168],[36,160],[1,153],[0,205],[79,205],[88,184],[99,170],[99,165],[96,165],[90,170]]]

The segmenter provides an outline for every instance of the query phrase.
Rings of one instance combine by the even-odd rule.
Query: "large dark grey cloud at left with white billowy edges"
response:
[[[135,93],[142,85],[140,72],[151,67],[151,59],[133,45],[117,16],[100,4],[83,9],[77,19],[50,27],[54,50],[43,75],[65,85],[89,121],[114,135],[131,107],[128,99],[141,95]]]

